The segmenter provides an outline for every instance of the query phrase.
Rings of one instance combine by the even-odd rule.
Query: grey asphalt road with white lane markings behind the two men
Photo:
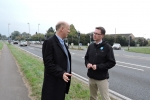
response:
[[[41,49],[21,47],[42,57]],[[84,65],[86,50],[70,50],[72,71],[87,78]],[[117,64],[109,70],[110,89],[133,100],[150,100],[150,54],[114,50]]]

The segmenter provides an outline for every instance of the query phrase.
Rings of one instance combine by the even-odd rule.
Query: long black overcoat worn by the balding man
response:
[[[67,72],[67,56],[56,35],[44,41],[42,54],[44,61],[44,82],[41,100],[64,100],[65,93],[69,91],[71,80],[68,83],[63,80],[63,74]],[[71,55],[69,51],[68,56],[71,67]],[[69,78],[71,79],[71,77]]]

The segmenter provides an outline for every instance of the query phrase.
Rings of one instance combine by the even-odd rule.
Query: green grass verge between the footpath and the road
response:
[[[13,45],[8,45],[8,47],[30,84],[31,96],[35,97],[36,100],[40,100],[43,82],[43,62]],[[65,100],[89,100],[88,85],[72,77],[70,92],[66,95]]]

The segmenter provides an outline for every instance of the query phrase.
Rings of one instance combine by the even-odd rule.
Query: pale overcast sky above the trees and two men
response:
[[[58,21],[74,24],[81,33],[103,26],[106,34],[132,33],[150,38],[149,0],[0,0],[0,33],[46,33]]]

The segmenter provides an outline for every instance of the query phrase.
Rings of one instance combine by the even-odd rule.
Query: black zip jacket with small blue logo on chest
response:
[[[95,43],[90,44],[85,55],[86,67],[88,63],[96,65],[96,70],[88,69],[87,75],[89,78],[96,80],[108,79],[108,69],[116,64],[112,47],[106,41],[98,45]]]

